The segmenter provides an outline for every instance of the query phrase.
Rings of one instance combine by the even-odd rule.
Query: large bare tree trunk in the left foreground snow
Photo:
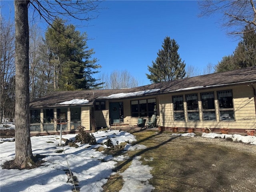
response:
[[[15,10],[15,159],[14,164],[26,168],[33,154],[29,131],[29,1],[14,1]]]

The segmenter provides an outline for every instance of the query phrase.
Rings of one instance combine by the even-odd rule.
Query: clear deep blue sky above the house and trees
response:
[[[1,2],[6,3],[12,1]],[[93,39],[88,46],[94,48],[100,73],[127,70],[139,85],[150,84],[148,65],[166,36],[176,40],[186,66],[194,66],[199,74],[207,64],[216,65],[232,54],[238,44],[218,24],[220,15],[198,18],[197,1],[104,1],[101,6],[106,9],[100,10],[98,18],[77,30]]]

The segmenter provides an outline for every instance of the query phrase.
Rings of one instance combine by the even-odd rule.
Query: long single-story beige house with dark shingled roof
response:
[[[54,134],[78,125],[136,126],[156,114],[156,126],[256,129],[256,66],[118,90],[58,91],[30,102],[30,133]]]

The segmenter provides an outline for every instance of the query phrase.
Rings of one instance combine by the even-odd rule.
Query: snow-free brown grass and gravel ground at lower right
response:
[[[149,182],[154,192],[256,191],[255,145],[172,136],[171,131],[127,131],[136,136],[136,144],[147,146],[134,155],[142,156],[143,164],[153,168]]]

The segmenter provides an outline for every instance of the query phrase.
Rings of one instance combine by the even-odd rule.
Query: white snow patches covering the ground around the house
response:
[[[2,124],[3,125],[3,124]],[[8,128],[14,128],[12,124],[5,123]],[[7,128],[1,126],[2,128]],[[173,134],[177,135],[177,134]],[[195,136],[194,133],[179,134],[180,136]],[[74,140],[76,134],[63,135],[62,138]],[[111,138],[113,144],[119,142],[136,141],[135,136],[119,130],[98,131],[94,133],[98,143],[104,143]],[[203,137],[231,138],[234,141],[242,141],[256,144],[255,136],[241,136],[231,134],[203,133]],[[13,138],[2,139],[0,144],[0,166],[8,160],[14,159],[15,142],[7,142]],[[5,170],[0,167],[0,190],[1,192],[70,192],[74,186],[67,182],[65,170],[70,170],[77,176],[81,192],[101,192],[102,186],[107,182],[118,161],[129,158],[125,155],[113,157],[96,151],[101,145],[78,144],[78,148],[70,146],[58,146],[59,136],[33,136],[31,137],[33,154],[46,155],[43,159],[44,166],[31,170]],[[126,144],[124,150],[144,149],[144,145]],[[56,153],[57,150],[64,150]],[[66,155],[65,155],[66,154]],[[147,159],[152,160],[152,159]],[[152,178],[152,168],[142,165],[141,156],[132,160],[127,170],[120,173],[124,184],[120,192],[150,192],[154,189],[148,180]]]

